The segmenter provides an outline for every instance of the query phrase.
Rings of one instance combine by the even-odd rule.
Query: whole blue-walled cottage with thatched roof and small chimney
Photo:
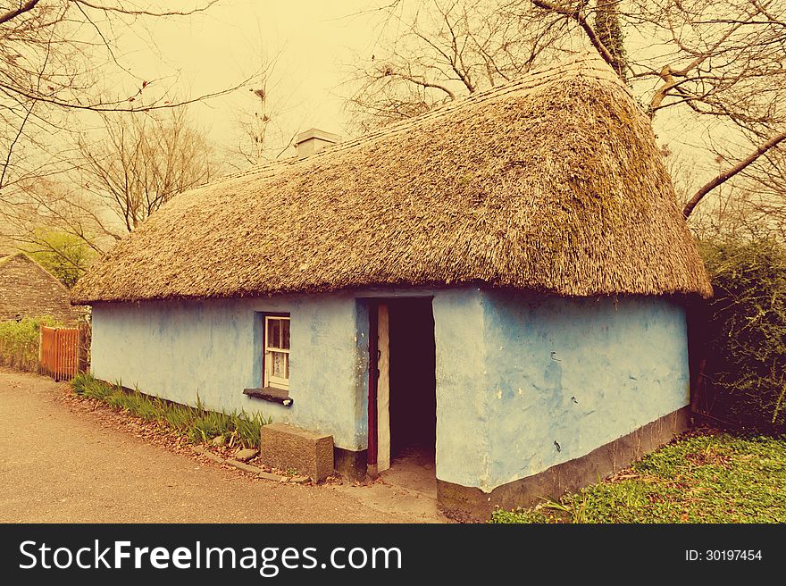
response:
[[[340,470],[421,446],[483,515],[684,429],[710,294],[648,117],[586,58],[188,191],[74,300],[96,376],[330,433]]]

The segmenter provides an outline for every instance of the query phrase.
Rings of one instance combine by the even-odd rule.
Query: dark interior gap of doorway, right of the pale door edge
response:
[[[389,301],[390,460],[431,463],[437,438],[437,381],[431,297]]]

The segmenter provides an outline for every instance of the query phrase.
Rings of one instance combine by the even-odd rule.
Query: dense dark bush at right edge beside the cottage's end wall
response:
[[[760,431],[786,431],[786,248],[774,239],[704,243],[707,406]]]

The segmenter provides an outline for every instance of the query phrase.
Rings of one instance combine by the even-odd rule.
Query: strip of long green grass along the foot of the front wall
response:
[[[258,448],[262,426],[271,423],[270,418],[265,419],[261,414],[219,413],[205,409],[199,401],[192,407],[151,397],[138,390],[128,392],[121,385],[108,385],[87,373],[74,377],[71,388],[80,397],[94,398],[141,419],[155,421],[197,443],[222,435],[229,446]]]

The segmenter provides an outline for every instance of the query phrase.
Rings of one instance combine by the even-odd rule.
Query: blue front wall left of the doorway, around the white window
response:
[[[293,406],[243,395],[262,382],[255,312],[291,314]],[[92,371],[187,405],[196,404],[198,393],[207,408],[261,412],[331,433],[341,448],[362,449],[367,330],[364,306],[349,296],[99,304],[93,307]]]

